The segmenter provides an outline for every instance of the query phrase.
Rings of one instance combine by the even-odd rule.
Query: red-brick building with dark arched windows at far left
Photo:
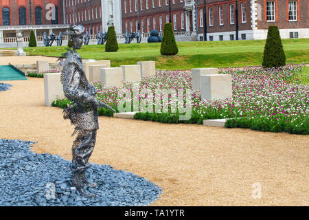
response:
[[[54,10],[54,16],[52,16]],[[49,16],[47,16],[49,14]],[[16,29],[29,36],[30,30],[43,32],[65,31],[61,0],[0,0],[0,37],[15,36]]]

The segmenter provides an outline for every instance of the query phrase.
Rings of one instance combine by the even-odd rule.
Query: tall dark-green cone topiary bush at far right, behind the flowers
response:
[[[286,65],[286,55],[282,47],[279,29],[277,26],[269,26],[262,66],[270,68],[284,65]]]

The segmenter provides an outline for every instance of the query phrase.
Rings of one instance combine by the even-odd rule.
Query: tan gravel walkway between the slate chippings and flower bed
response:
[[[38,141],[36,153],[71,159],[73,126],[45,107],[42,78],[5,81],[0,137]],[[308,206],[308,136],[99,118],[90,159],[163,188],[155,206]],[[262,186],[253,199],[252,184]]]

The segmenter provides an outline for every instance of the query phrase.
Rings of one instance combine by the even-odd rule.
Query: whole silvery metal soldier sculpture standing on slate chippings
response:
[[[74,104],[68,105],[63,110],[63,118],[71,120],[71,124],[76,126],[72,135],[77,133],[72,146],[72,183],[83,197],[91,198],[95,195],[85,192],[84,186],[95,187],[96,184],[87,181],[85,171],[90,166],[88,159],[95,146],[97,129],[99,129],[98,107],[112,108],[98,102],[95,98],[97,90],[89,84],[84,74],[82,58],[76,52],[76,49],[82,47],[84,41],[84,27],[73,25],[69,38],[73,42],[73,50],[66,52],[65,60],[60,61],[61,83],[65,96]]]

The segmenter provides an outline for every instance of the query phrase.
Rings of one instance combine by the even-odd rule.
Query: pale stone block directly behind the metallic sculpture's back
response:
[[[65,98],[60,76],[60,73],[44,74],[44,96],[47,106],[51,106],[57,96]]]

